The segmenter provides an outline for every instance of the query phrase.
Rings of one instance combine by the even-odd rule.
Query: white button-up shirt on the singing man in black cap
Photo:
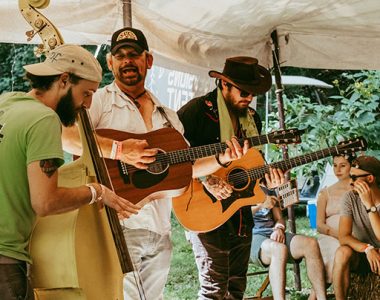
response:
[[[162,106],[161,103],[152,93],[149,92],[149,95],[155,105],[152,113],[152,130],[168,127],[168,121],[157,109],[158,106]],[[183,134],[184,129],[176,112],[167,107],[164,110],[171,125]],[[96,129],[107,128],[137,134],[148,132],[138,108],[115,82],[94,94],[89,112]],[[137,215],[123,220],[123,223],[131,229],[142,228],[158,234],[167,234],[171,228],[171,209],[170,198],[155,200],[145,204]]]

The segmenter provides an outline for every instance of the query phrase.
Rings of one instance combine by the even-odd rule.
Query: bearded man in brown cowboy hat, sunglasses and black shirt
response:
[[[218,79],[218,87],[178,111],[191,146],[259,135],[261,121],[249,104],[254,96],[270,89],[269,71],[256,58],[239,56],[228,58],[223,72],[210,71],[209,75]],[[231,193],[228,185],[214,177],[206,177],[203,184],[214,195],[219,189],[219,199]],[[251,209],[243,207],[211,232],[190,233],[201,285],[199,299],[243,298],[252,227]]]

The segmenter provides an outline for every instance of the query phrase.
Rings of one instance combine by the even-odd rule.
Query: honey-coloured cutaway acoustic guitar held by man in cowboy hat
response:
[[[228,168],[214,174],[232,186],[233,193],[229,198],[218,201],[202,183],[194,179],[186,193],[173,199],[174,213],[178,221],[190,231],[214,230],[224,224],[241,207],[264,201],[265,195],[259,186],[259,179],[268,173],[270,167],[286,171],[328,156],[362,151],[366,147],[366,141],[363,138],[357,138],[341,142],[335,147],[269,165],[264,165],[264,160],[256,149],[250,149],[242,159],[232,162]]]

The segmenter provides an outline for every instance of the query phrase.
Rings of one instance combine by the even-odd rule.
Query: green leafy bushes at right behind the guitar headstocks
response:
[[[310,98],[296,95],[284,96],[285,124],[287,128],[305,129],[302,143],[289,146],[289,156],[314,152],[330,147],[342,140],[363,136],[368,142],[367,153],[376,155],[380,149],[380,71],[362,71],[355,74],[343,73],[345,89],[340,89],[339,80],[334,84],[339,95],[330,98],[339,100],[336,105],[320,105]],[[347,85],[347,82],[350,84]],[[279,128],[278,113],[269,116],[271,130]],[[270,160],[281,160],[277,148],[271,148]],[[295,168],[295,172],[308,175],[315,170],[323,173],[324,160]]]

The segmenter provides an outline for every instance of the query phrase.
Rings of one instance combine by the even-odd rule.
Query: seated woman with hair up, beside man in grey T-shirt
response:
[[[338,182],[322,189],[317,200],[319,247],[326,269],[326,284],[332,283],[335,251],[339,247],[338,230],[343,195],[350,191],[350,169],[353,156],[334,156],[333,170]]]

